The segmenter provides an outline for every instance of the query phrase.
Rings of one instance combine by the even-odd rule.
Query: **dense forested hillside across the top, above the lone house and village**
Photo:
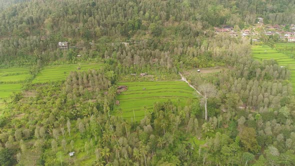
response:
[[[294,3],[292,0],[31,0],[16,3],[0,11],[0,62],[7,65],[7,60],[14,59],[17,65],[24,65],[34,58],[28,57],[33,52],[48,57],[62,40],[86,48],[86,43],[92,40],[107,41],[102,36],[121,41],[166,34],[174,34],[170,40],[196,37],[213,26],[247,27],[259,16],[264,17],[265,23],[293,23]],[[43,61],[56,59],[50,58]]]

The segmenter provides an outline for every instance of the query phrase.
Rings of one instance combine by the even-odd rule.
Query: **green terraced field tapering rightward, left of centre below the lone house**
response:
[[[84,71],[88,69],[98,69],[103,63],[83,63],[83,64],[64,64],[64,65],[49,65],[45,66],[32,83],[46,83],[49,81],[65,80],[70,71]],[[80,67],[80,69],[78,69]]]

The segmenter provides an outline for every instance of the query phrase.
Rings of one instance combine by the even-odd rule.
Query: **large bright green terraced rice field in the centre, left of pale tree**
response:
[[[156,101],[167,101],[184,105],[188,98],[197,98],[197,94],[183,81],[150,81],[150,82],[119,82],[127,86],[127,90],[117,95],[120,102],[115,110],[121,108],[122,117],[141,119],[144,116],[144,105],[147,111],[153,108]],[[134,115],[133,115],[134,113]],[[119,115],[118,112],[116,112]]]

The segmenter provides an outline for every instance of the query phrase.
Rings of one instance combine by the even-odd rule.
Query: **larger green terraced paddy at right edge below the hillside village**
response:
[[[295,59],[266,45],[252,46],[252,56],[258,60],[274,59],[279,65],[287,66],[288,69],[291,70],[290,81],[293,85],[293,91],[295,92]]]

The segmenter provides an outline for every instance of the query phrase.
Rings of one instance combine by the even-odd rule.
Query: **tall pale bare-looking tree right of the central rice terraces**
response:
[[[208,112],[207,112],[207,99],[208,97],[216,94],[216,88],[211,83],[204,83],[199,85],[198,90],[202,93],[205,99],[205,120],[208,121]]]

